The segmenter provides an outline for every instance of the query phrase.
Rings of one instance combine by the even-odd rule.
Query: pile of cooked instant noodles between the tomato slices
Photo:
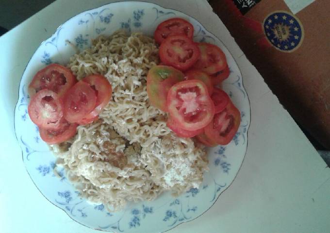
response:
[[[104,75],[112,101],[98,121],[79,126],[73,139],[52,148],[82,196],[112,211],[127,201],[154,200],[165,190],[198,188],[208,170],[204,149],[172,133],[166,113],[149,104],[146,76],[158,62],[153,39],[117,31],[94,40],[67,65],[78,80]]]

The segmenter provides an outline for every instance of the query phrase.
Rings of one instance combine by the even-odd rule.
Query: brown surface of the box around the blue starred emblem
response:
[[[316,0],[294,15],[301,22],[304,37],[300,46],[289,53],[270,43],[261,46],[260,34],[244,24],[244,17],[248,17],[264,27],[268,15],[291,13],[283,0],[261,0],[242,17],[232,11],[230,3],[210,0],[214,12],[283,106],[330,149],[330,1]]]

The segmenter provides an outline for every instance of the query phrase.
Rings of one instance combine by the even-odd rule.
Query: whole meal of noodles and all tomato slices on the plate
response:
[[[29,116],[88,201],[116,211],[198,188],[209,169],[205,146],[235,135],[240,112],[212,83],[226,57],[195,43],[193,31],[174,18],[154,39],[101,35],[66,67],[50,64],[33,77]]]

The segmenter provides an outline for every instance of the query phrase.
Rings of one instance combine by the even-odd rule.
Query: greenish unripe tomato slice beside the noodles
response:
[[[174,84],[183,81],[184,75],[170,66],[154,66],[147,76],[147,92],[150,103],[167,112],[167,93]]]

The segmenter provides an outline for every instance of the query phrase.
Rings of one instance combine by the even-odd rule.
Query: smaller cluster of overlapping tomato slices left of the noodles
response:
[[[112,87],[102,75],[92,74],[77,82],[71,70],[50,64],[34,75],[29,91],[29,116],[39,127],[40,137],[54,144],[73,137],[76,124],[97,120],[111,99]]]

